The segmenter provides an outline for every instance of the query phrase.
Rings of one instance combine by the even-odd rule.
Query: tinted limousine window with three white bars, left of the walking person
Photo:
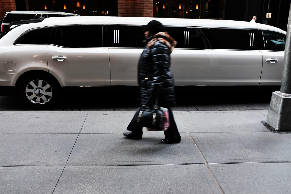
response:
[[[109,47],[143,48],[145,30],[142,26],[130,25],[108,25]]]

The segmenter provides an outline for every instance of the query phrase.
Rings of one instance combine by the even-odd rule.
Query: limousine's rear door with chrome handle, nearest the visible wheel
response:
[[[54,27],[47,49],[48,68],[61,86],[109,86],[108,49],[102,25]],[[103,33],[104,34],[104,33]]]

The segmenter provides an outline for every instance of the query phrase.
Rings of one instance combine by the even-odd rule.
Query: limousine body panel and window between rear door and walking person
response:
[[[139,25],[107,25],[111,85],[138,85],[137,63],[145,43]]]

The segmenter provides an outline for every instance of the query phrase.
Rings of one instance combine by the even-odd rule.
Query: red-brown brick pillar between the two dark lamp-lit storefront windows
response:
[[[152,0],[118,0],[118,16],[152,17]]]

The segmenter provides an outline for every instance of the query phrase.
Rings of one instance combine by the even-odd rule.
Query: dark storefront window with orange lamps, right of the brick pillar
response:
[[[153,0],[153,17],[223,18],[225,0]]]

